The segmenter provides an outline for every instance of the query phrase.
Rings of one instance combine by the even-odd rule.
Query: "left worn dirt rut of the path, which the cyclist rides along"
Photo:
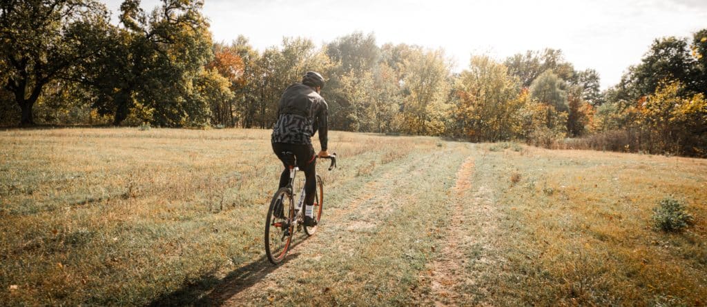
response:
[[[418,155],[387,169],[380,176],[371,178],[358,191],[351,193],[351,198],[343,200],[346,206],[327,208],[325,205],[323,227],[320,227],[315,236],[307,239],[302,234],[296,234],[295,245],[284,263],[274,267],[267,263],[267,260],[260,261],[253,265],[254,267],[247,268],[252,272],[249,275],[233,277],[230,280],[226,278],[223,285],[207,295],[204,303],[244,306],[262,301],[264,297],[269,299],[269,293],[276,291],[282,282],[295,282],[295,274],[301,274],[297,269],[303,263],[322,257],[320,253],[325,246],[334,244],[339,251],[354,253],[351,247],[354,244],[349,241],[357,239],[356,231],[367,231],[375,227],[382,215],[390,213],[391,207],[385,204],[390,203],[395,188],[410,172],[420,171],[421,167],[431,167],[431,164],[422,163],[428,156],[429,154]],[[380,210],[383,208],[387,210]]]

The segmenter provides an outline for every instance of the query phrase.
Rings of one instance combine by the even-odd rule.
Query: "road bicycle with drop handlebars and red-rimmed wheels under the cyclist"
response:
[[[337,154],[329,155],[329,157],[319,157],[320,159],[330,159],[332,164],[329,165],[329,171],[337,167]],[[297,165],[297,163],[294,163]],[[304,229],[307,236],[312,236],[317,231],[317,226],[303,227],[304,224],[304,201],[305,187],[302,186],[300,197],[297,203],[293,200],[296,198],[294,191],[295,176],[299,168],[290,166],[290,182],[284,188],[279,188],[273,195],[270,202],[270,207],[265,218],[265,253],[268,260],[274,265],[281,263],[287,255],[288,248],[292,241],[294,230],[301,231]],[[317,224],[322,218],[322,208],[324,207],[324,184],[322,177],[316,175],[317,183],[314,199],[314,214]],[[278,204],[279,202],[279,204]]]

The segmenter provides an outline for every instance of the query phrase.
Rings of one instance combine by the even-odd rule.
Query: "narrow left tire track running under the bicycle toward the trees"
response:
[[[322,227],[317,231],[315,236],[312,236],[312,238],[306,241],[303,241],[305,239],[304,234],[297,236],[296,240],[298,242],[296,242],[296,246],[293,246],[291,251],[288,251],[290,254],[288,255],[289,259],[286,258],[284,263],[281,263],[281,265],[277,267],[277,270],[265,270],[263,275],[258,276],[255,282],[246,284],[240,283],[239,280],[227,281],[226,284],[221,285],[218,289],[209,294],[204,299],[204,303],[221,303],[223,306],[243,306],[252,303],[256,297],[262,297],[263,294],[267,294],[270,289],[278,287],[278,284],[281,282],[294,282],[295,278],[293,276],[300,273],[301,263],[320,257],[318,254],[320,253],[320,247],[330,243],[331,240],[327,241],[322,239],[322,236],[337,236],[337,232],[345,231],[346,227],[352,224],[351,219],[346,219],[345,217],[356,213],[362,204],[374,199],[376,195],[381,195],[383,191],[390,193],[395,186],[393,179],[409,171],[410,164],[420,164],[426,157],[428,157],[427,152],[421,152],[419,153],[419,157],[415,159],[409,159],[401,164],[391,165],[390,169],[387,169],[381,176],[373,178],[359,188],[358,191],[350,193],[351,198],[341,200],[341,203],[349,203],[349,205],[329,207],[331,209],[327,210],[327,191],[325,186],[325,210],[322,215]],[[340,188],[340,191],[341,190],[344,190],[344,188]],[[299,257],[299,255],[303,255],[303,257]],[[271,266],[271,264],[265,261],[262,263],[262,266]]]

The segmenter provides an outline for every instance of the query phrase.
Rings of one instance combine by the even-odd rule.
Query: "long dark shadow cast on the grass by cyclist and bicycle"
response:
[[[306,239],[292,242],[290,248],[295,248]],[[259,282],[265,276],[277,270],[290,260],[296,259],[299,252],[288,253],[279,265],[273,265],[267,255],[233,270],[226,277],[218,279],[216,272],[209,272],[199,280],[185,284],[170,294],[160,296],[148,306],[221,306],[231,297]]]

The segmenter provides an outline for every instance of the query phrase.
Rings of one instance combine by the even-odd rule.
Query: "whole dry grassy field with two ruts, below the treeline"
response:
[[[1,304],[707,304],[707,160],[329,138],[322,227],[275,267],[269,131],[0,131]]]

